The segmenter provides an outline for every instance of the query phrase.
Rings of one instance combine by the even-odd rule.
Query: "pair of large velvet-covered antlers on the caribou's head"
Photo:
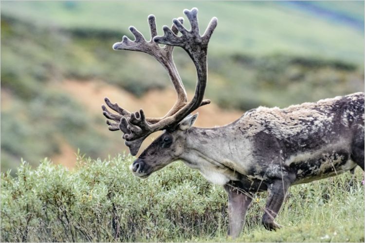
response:
[[[127,36],[123,36],[123,41],[113,45],[114,50],[130,50],[146,52],[158,60],[168,71],[172,84],[177,93],[177,101],[174,106],[163,118],[146,118],[144,111],[141,109],[137,112],[130,113],[118,104],[112,104],[108,98],[105,98],[106,104],[118,114],[113,114],[103,105],[103,114],[107,120],[111,131],[121,130],[126,139],[126,145],[130,153],[136,155],[143,140],[151,133],[174,128],[188,114],[197,109],[199,106],[209,104],[209,100],[203,100],[204,91],[207,81],[206,55],[210,36],[217,26],[217,18],[212,18],[204,35],[199,34],[198,9],[193,8],[191,11],[184,10],[184,14],[189,19],[191,30],[188,31],[183,27],[183,18],[173,19],[173,26],[163,27],[164,36],[156,36],[156,23],[153,15],[148,16],[150,26],[151,40],[146,41],[144,36],[133,26],[129,27],[130,32],[135,36],[135,41],[131,41]],[[182,36],[177,36],[178,31]],[[161,48],[158,44],[165,44]],[[197,86],[193,99],[187,103],[187,95],[179,73],[175,67],[172,58],[174,46],[182,47],[191,57],[197,69]]]

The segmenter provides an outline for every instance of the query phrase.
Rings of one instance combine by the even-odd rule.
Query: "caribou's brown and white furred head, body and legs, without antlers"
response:
[[[364,170],[364,93],[292,105],[258,107],[215,128],[192,127],[198,114],[164,133],[130,166],[146,178],[182,160],[229,196],[233,237],[242,230],[252,194],[268,191],[262,217],[268,229],[291,185],[352,170]]]

